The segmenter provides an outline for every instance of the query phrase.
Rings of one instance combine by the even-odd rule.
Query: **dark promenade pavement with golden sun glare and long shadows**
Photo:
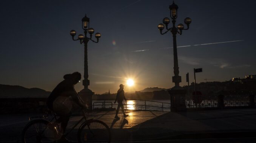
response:
[[[126,111],[128,117],[114,119],[115,111],[89,114],[89,119],[102,120],[110,128],[113,141],[196,140],[197,138],[251,138],[256,133],[256,109],[225,109],[188,112]],[[36,114],[0,115],[0,142],[20,142],[20,134],[29,116]],[[71,117],[68,128],[80,119]],[[76,141],[77,128],[68,136]],[[241,140],[241,139],[240,139]],[[251,139],[248,139],[251,140]]]

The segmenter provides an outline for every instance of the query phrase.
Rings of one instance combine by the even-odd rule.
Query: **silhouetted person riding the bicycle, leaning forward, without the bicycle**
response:
[[[83,101],[80,100],[76,90],[74,89],[74,85],[80,82],[81,74],[79,72],[74,72],[72,74],[64,75],[63,78],[64,80],[60,82],[54,90],[52,90],[46,101],[48,108],[59,116],[59,119],[57,119],[56,122],[61,123],[62,134],[65,133],[69,117],[71,116],[72,101],[81,107],[86,106],[82,103]],[[63,136],[58,140],[58,142],[72,143],[72,141],[69,141]]]

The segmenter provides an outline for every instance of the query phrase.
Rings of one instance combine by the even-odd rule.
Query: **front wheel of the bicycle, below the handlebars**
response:
[[[79,143],[106,142],[111,141],[111,132],[106,123],[100,120],[89,120],[78,131]]]

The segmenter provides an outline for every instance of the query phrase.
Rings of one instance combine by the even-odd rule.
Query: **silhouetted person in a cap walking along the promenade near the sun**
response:
[[[116,100],[114,102],[114,103],[116,103],[116,101],[117,101],[117,103],[118,103],[117,109],[116,109],[116,116],[115,116],[116,119],[120,119],[120,117],[117,116],[120,107],[121,107],[121,110],[123,112],[123,117],[127,117],[128,116],[128,115],[125,114],[125,111],[123,110],[123,99],[125,99],[125,101],[126,101],[125,92],[123,91],[124,85],[120,84],[119,87],[120,87],[120,89],[117,91]]]

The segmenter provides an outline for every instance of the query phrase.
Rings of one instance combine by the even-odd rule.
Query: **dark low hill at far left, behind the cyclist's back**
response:
[[[51,92],[39,88],[25,88],[0,84],[0,98],[47,98]]]

